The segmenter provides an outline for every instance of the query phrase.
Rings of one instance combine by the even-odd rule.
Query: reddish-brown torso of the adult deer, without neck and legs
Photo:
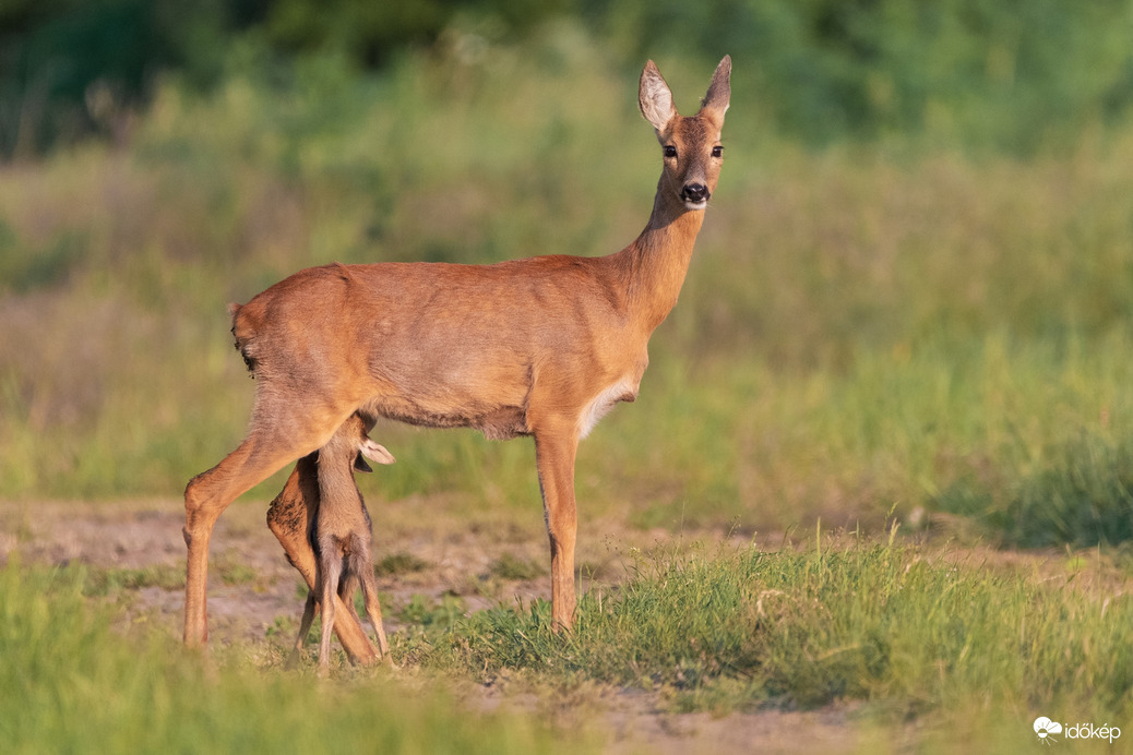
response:
[[[629,320],[622,274],[610,257],[329,265],[254,298],[233,333],[257,378],[509,438],[529,431],[540,380],[581,405],[589,397],[570,393],[594,376],[640,378],[647,336]]]

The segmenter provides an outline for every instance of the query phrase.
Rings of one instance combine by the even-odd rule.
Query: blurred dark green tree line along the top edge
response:
[[[511,44],[560,18],[627,68],[730,52],[763,122],[810,145],[1029,153],[1133,103],[1133,0],[0,0],[0,157],[111,131],[164,74],[207,89],[239,43],[365,76],[454,26]]]

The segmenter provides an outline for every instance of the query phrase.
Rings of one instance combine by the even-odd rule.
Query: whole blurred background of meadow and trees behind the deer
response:
[[[1131,2],[0,2],[0,497],[176,500],[247,421],[224,304],[299,267],[620,249],[641,65],[690,112],[730,53],[721,186],[582,515],[1123,542],[1130,38]],[[374,435],[367,496],[537,523],[530,444]]]

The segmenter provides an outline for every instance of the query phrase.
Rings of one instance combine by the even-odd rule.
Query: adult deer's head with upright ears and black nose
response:
[[[676,112],[673,93],[650,60],[641,71],[638,104],[653,123],[665,160],[662,189],[688,209],[704,209],[716,189],[724,146],[719,143],[732,87],[732,58],[724,55],[712,77],[700,111],[691,118]]]

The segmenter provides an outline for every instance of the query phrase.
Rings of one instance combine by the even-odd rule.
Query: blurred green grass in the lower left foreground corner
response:
[[[586,752],[521,715],[469,713],[381,675],[317,684],[122,636],[78,569],[0,568],[0,737],[42,752]]]

